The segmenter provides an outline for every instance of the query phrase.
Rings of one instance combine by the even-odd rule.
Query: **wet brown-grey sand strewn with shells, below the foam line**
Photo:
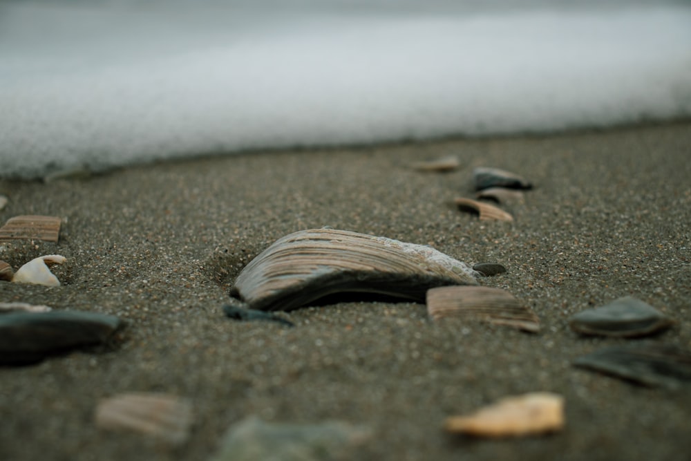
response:
[[[448,155],[461,167],[409,165]],[[558,135],[253,152],[149,164],[89,178],[0,180],[0,221],[63,219],[58,243],[13,241],[15,270],[61,254],[62,285],[0,283],[0,301],[113,314],[109,348],[0,367],[0,459],[207,460],[226,429],[341,420],[367,426],[359,460],[686,460],[691,394],[645,388],[571,362],[598,348],[653,341],[691,350],[691,123]],[[460,211],[474,167],[531,180],[513,223]],[[236,322],[221,306],[238,272],[277,238],[331,226],[432,245],[509,290],[542,322],[533,335],[433,322],[419,303],[366,299]],[[650,339],[580,337],[576,312],[630,295],[676,320]],[[189,440],[168,446],[97,429],[103,397],[165,392],[193,402]],[[565,397],[551,435],[476,440],[442,429],[507,395]]]

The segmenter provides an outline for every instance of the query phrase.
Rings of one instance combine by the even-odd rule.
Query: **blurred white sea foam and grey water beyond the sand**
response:
[[[691,115],[691,8],[558,4],[5,2],[0,176]]]

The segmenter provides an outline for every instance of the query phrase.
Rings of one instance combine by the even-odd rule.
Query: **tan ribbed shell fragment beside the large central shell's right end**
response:
[[[540,319],[513,294],[491,287],[439,287],[427,292],[427,311],[435,321],[444,317],[480,320],[529,332],[540,331]]]

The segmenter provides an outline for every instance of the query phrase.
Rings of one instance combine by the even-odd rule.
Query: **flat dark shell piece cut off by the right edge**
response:
[[[626,344],[578,357],[574,365],[650,387],[675,389],[691,382],[691,353],[662,344]]]

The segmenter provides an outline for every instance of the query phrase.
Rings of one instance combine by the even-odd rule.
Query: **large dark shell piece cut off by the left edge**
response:
[[[94,312],[10,312],[0,315],[0,364],[29,364],[70,348],[102,344],[120,328]]]

